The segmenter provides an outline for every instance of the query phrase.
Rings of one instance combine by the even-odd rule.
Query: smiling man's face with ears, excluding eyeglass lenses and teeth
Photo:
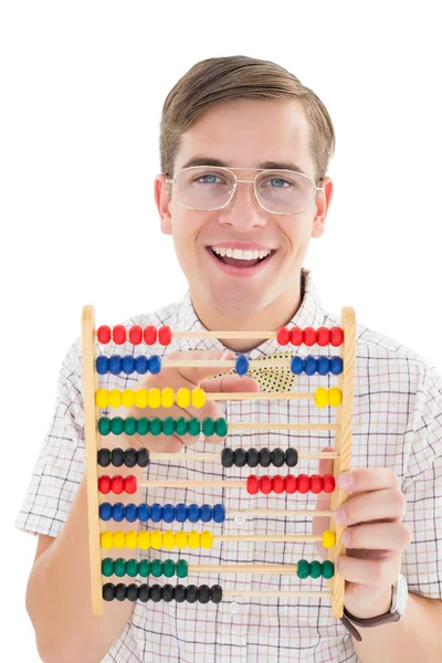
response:
[[[253,180],[246,168],[264,161],[292,162],[314,179],[308,152],[309,126],[301,106],[293,101],[228,99],[209,106],[182,135],[175,172],[193,157],[219,159],[238,179]],[[244,168],[244,169],[243,169]],[[238,183],[233,200],[220,210],[183,208],[166,183],[155,180],[155,197],[161,231],[171,234],[181,269],[189,282],[193,303],[217,315],[257,315],[275,302],[290,299],[311,236],[324,231],[333,182],[326,178],[309,209],[301,214],[278,215],[265,211],[254,197],[253,183]],[[271,250],[254,265],[231,267],[212,248],[236,246]],[[257,249],[257,246],[256,246]]]

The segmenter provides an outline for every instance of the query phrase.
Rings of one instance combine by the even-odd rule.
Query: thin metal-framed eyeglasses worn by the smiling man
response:
[[[259,170],[253,180],[239,180],[233,170]],[[272,214],[302,214],[312,204],[316,187],[307,175],[294,170],[260,168],[224,168],[190,166],[179,170],[173,179],[178,202],[189,210],[221,210],[232,200],[238,182],[253,182],[254,196],[261,207]]]

